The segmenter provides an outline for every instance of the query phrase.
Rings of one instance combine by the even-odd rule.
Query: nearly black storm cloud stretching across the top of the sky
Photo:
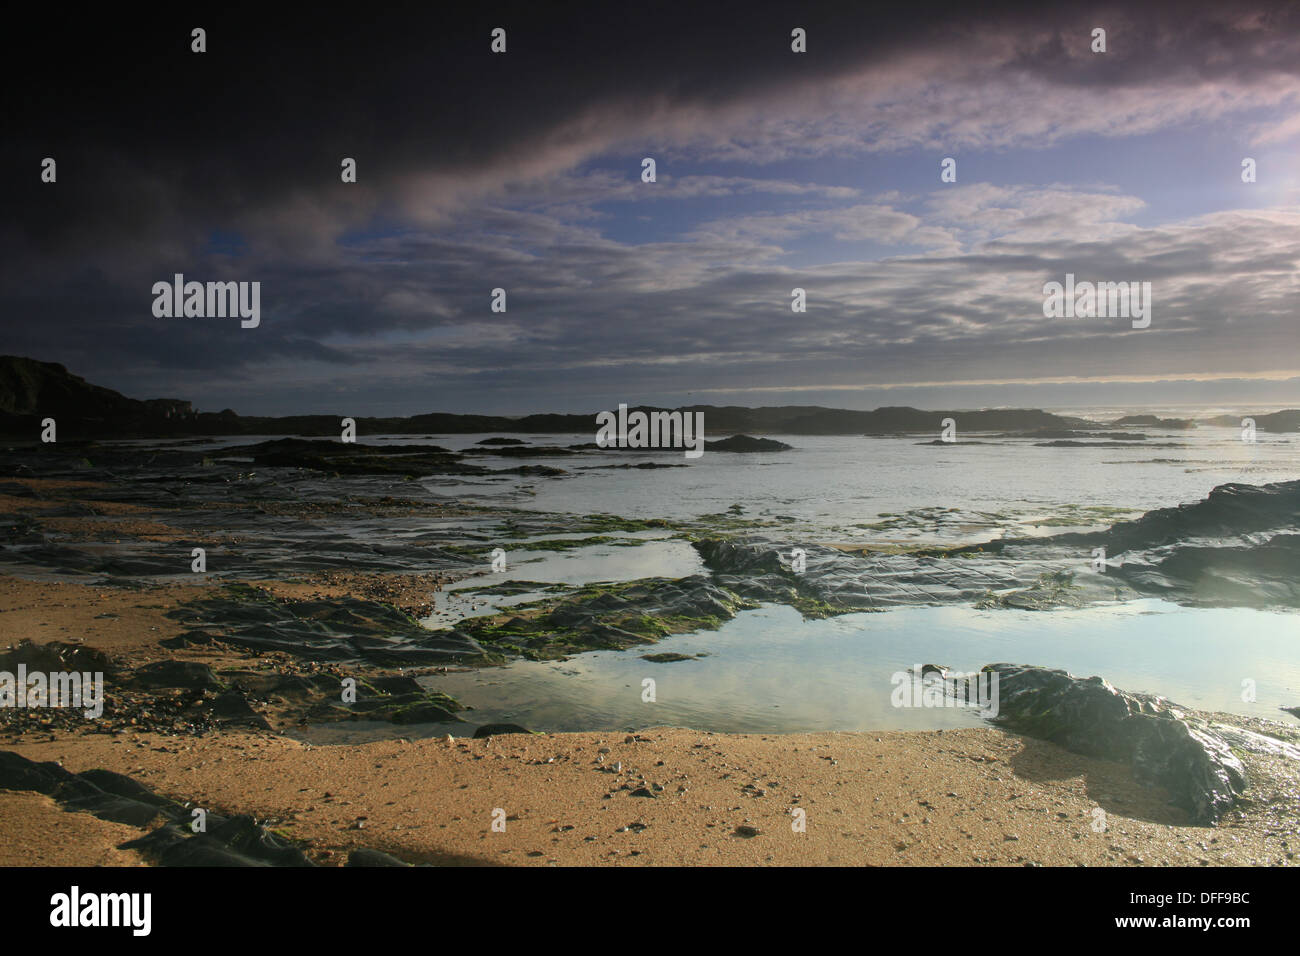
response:
[[[277,20],[263,5],[43,17],[16,31],[39,59],[9,87],[23,95],[6,121],[6,178],[22,187],[9,196],[18,232],[5,239],[57,255],[136,237],[198,243],[218,225],[273,235],[376,212],[400,217],[393,200],[417,190],[411,179],[491,191],[619,140],[696,139],[731,109],[872,69],[897,65],[924,81],[916,70],[932,55],[991,79],[1032,75],[1046,85],[1040,99],[1052,87],[1195,88],[1300,74],[1295,4],[963,4],[927,5],[924,16],[914,5],[846,7],[484,4],[469,16],[380,8]],[[195,56],[188,31],[200,21],[209,52]],[[1100,21],[1113,25],[1105,70],[1088,69],[1087,34]],[[796,22],[815,56],[786,56]],[[500,25],[508,56],[488,48]],[[55,195],[30,185],[38,153],[60,157]],[[363,176],[341,194],[344,155],[359,157]]]

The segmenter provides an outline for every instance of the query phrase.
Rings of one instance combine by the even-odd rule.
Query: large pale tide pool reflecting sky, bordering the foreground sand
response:
[[[538,731],[937,730],[979,726],[962,708],[894,708],[892,678],[919,663],[972,671],[1011,661],[1101,674],[1115,687],[1186,706],[1296,723],[1300,618],[1251,609],[1190,609],[1162,601],[1069,611],[905,607],[803,620],[789,607],[746,611],[719,631],[668,637],[641,653],[707,654],[673,663],[638,652],[593,652],[569,661],[422,679],[473,708],[468,724],[424,732],[472,734],[499,721]],[[655,701],[642,701],[642,680]],[[1243,682],[1254,682],[1244,701]],[[320,743],[421,732],[391,726],[313,728]]]

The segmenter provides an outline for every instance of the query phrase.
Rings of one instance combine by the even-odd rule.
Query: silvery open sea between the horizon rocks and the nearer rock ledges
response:
[[[937,429],[936,423],[935,438]],[[1131,447],[1039,447],[1034,440],[958,431],[956,445],[935,446],[919,444],[928,441],[926,436],[771,436],[794,450],[706,453],[694,462],[670,450],[526,459],[564,468],[572,477],[512,479],[508,486],[456,483],[441,485],[437,493],[484,501],[506,496],[514,505],[538,511],[629,518],[689,518],[740,503],[746,518],[784,516],[801,525],[842,529],[852,538],[862,535],[854,524],[875,522],[881,512],[924,507],[987,512],[994,516],[996,532],[998,518],[1004,527],[1013,527],[1035,515],[1050,516],[1062,505],[1136,512],[1204,498],[1210,488],[1228,481],[1264,484],[1296,477],[1296,444],[1290,434],[1261,432],[1257,442],[1245,444],[1234,428],[1128,431],[1148,436],[1148,441]],[[438,441],[464,447],[478,436],[456,438],[463,444],[451,437]],[[590,441],[590,436],[529,437],[534,445],[573,441]],[[519,463],[482,460],[491,467]],[[580,471],[595,463],[645,460],[686,467]],[[939,529],[936,537],[970,537],[957,532]]]

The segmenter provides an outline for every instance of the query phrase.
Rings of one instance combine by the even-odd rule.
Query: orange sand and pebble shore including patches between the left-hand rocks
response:
[[[124,540],[187,537],[164,523],[166,511],[104,501],[103,484],[12,483],[39,496],[5,496],[13,512],[39,515],[69,545],[110,551]],[[330,645],[291,653],[233,643],[220,626],[208,626],[207,635],[202,622],[195,630],[194,615],[234,587],[243,597],[226,598],[238,607],[224,613],[239,611],[272,631],[277,624],[265,615],[277,607],[317,609],[295,618],[296,627],[339,605],[372,617],[386,607],[419,630],[412,615],[426,613],[432,592],[458,580],[454,567],[318,570],[235,585],[195,584],[186,575],[114,578],[65,578],[48,567],[0,574],[0,630],[9,641],[31,641],[29,652],[6,653],[84,653],[113,669],[103,719],[6,710],[0,752],[56,761],[74,774],[108,770],[186,806],[250,814],[320,865],[343,864],[363,849],[434,865],[1295,862],[1295,760],[1238,754],[1251,777],[1245,797],[1218,826],[1193,826],[1160,787],[1139,783],[1128,763],[993,727],[447,737],[441,727],[460,719],[460,705],[412,679],[447,666],[438,662],[441,649],[417,648],[434,656],[411,659],[403,648],[367,659],[332,657]],[[339,706],[347,676],[365,688],[359,704],[367,706]],[[1295,727],[1280,722],[1192,714],[1297,740]],[[359,718],[412,726],[364,744],[312,745],[294,736],[307,723]],[[473,723],[455,727],[468,735]],[[4,779],[0,844],[9,851],[0,865],[157,862],[122,844],[161,818],[98,819],[30,788],[5,790]],[[491,829],[498,809],[504,832]],[[797,809],[806,814],[803,831],[792,826]]]

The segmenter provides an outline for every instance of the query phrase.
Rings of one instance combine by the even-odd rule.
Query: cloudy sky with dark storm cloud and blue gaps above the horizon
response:
[[[12,35],[0,354],[135,398],[1300,406],[1300,4],[231,5]],[[260,282],[260,324],[156,317],[176,273]],[[1046,317],[1067,273],[1149,282],[1149,326]]]

